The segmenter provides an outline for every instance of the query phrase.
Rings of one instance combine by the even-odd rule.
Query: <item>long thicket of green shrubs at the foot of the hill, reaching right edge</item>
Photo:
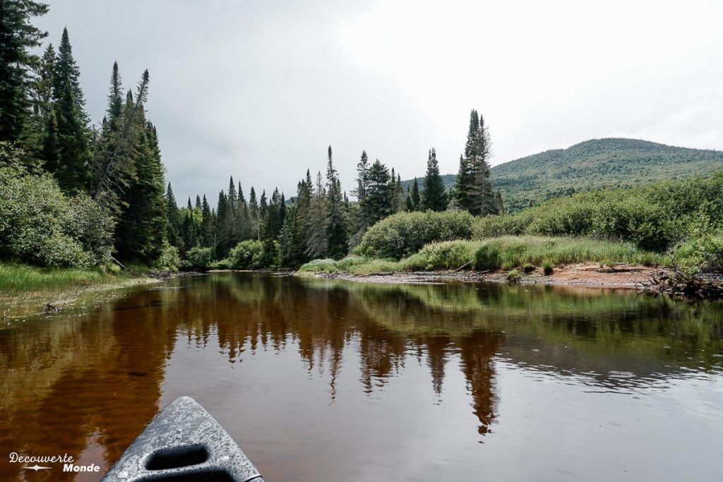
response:
[[[474,238],[504,234],[590,236],[665,251],[688,233],[723,225],[723,172],[637,189],[578,193],[516,215],[474,222]]]

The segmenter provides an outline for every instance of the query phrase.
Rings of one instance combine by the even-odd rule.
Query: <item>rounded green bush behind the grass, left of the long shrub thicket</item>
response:
[[[366,257],[400,259],[434,241],[469,239],[472,220],[463,211],[399,212],[369,228],[355,252]]]

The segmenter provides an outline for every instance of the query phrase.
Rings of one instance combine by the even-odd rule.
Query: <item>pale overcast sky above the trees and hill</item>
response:
[[[287,197],[332,145],[343,188],[361,150],[453,173],[469,111],[493,164],[599,137],[722,149],[723,1],[50,1],[87,109],[150,71],[148,117],[180,203],[228,176]]]

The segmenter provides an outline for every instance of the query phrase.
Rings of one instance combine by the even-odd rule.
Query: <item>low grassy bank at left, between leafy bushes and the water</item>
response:
[[[98,291],[151,283],[142,271],[38,268],[0,263],[0,317],[27,317],[76,306],[93,305]]]

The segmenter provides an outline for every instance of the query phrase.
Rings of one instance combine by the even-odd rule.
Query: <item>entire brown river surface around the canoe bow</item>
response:
[[[181,395],[268,482],[723,480],[723,305],[251,273],[133,288],[0,328],[0,481],[98,481]]]

